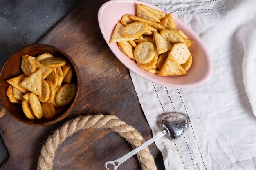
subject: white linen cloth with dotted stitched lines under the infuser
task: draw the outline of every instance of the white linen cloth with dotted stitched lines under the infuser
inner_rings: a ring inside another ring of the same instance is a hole
[[[202,39],[213,75],[201,86],[171,88],[130,72],[152,128],[164,113],[189,115],[177,142],[155,142],[166,170],[256,170],[256,0],[143,0],[188,24]]]

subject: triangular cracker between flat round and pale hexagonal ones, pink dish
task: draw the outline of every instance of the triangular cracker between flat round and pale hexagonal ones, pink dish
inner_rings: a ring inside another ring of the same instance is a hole
[[[156,31],[154,31],[154,38],[155,38],[155,44],[157,46],[157,54],[158,55],[165,53],[167,51],[171,51],[171,49],[173,48],[173,45],[170,42],[168,42],[167,40],[165,40],[162,37],[162,35],[160,35]]]

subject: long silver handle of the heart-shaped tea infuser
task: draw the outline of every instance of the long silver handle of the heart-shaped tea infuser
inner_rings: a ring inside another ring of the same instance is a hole
[[[121,165],[124,161],[126,161],[127,159],[129,159],[130,157],[132,157],[133,155],[137,154],[139,151],[141,151],[142,149],[146,148],[148,145],[152,144],[153,142],[155,142],[157,139],[159,139],[160,137],[166,135],[166,131],[163,130],[161,133],[157,134],[155,137],[149,139],[148,141],[146,141],[144,144],[140,145],[139,147],[137,147],[136,149],[132,150],[131,152],[129,152],[128,154],[124,155],[123,157],[115,160],[115,161],[108,161],[104,164],[105,168],[107,170],[110,170],[108,168],[108,164],[111,164],[114,166],[113,170],[116,170],[119,165]]]

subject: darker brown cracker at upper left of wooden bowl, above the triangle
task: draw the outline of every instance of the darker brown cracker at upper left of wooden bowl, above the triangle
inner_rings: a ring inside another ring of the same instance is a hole
[[[26,76],[29,76],[31,73],[36,71],[36,66],[31,57],[28,55],[22,56],[20,68]]]

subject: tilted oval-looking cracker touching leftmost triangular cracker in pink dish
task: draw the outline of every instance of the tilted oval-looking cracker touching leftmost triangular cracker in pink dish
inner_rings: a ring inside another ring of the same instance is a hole
[[[124,38],[135,38],[147,31],[148,24],[144,22],[133,22],[124,27],[121,31],[121,36]]]

